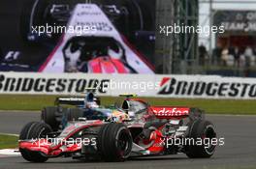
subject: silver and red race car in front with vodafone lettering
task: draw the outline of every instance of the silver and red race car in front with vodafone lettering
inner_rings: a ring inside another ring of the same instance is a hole
[[[150,106],[142,99],[126,97],[108,119],[80,118],[70,122],[60,134],[42,122],[27,124],[20,132],[19,152],[31,162],[58,156],[123,161],[129,157],[177,153],[191,158],[213,155],[215,145],[211,141],[216,138],[216,131],[201,110]],[[177,143],[177,139],[186,141]],[[202,144],[190,142],[195,139],[201,139]]]

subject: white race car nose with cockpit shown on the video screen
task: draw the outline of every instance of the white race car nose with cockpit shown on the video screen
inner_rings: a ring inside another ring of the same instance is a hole
[[[63,34],[40,72],[154,73],[96,4],[76,5],[68,27],[83,26]]]

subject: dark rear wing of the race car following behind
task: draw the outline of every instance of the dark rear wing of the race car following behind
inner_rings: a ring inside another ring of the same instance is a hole
[[[84,98],[81,97],[62,97],[62,98],[57,98],[55,99],[55,105],[60,105],[60,104],[66,104],[66,105],[82,105],[84,104]]]

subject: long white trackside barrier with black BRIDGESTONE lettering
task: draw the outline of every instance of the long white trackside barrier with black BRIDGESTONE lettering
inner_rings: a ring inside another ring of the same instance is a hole
[[[145,75],[0,72],[1,94],[78,95],[97,87],[99,96],[187,99],[256,99],[256,79],[217,75]]]

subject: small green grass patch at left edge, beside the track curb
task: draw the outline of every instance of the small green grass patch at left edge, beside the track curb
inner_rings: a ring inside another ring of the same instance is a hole
[[[0,149],[16,148],[17,139],[17,136],[0,134]]]

